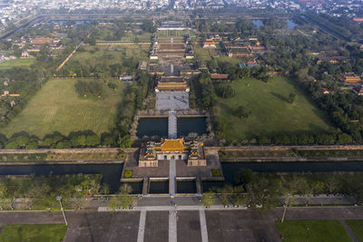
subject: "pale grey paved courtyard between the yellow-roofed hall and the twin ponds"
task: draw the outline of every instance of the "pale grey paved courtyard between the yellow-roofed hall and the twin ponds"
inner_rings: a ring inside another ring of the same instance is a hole
[[[157,92],[156,110],[188,110],[189,92]]]

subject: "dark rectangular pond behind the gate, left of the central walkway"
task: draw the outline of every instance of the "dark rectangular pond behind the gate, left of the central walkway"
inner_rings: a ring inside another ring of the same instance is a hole
[[[139,139],[158,136],[159,138],[168,137],[167,118],[140,118],[137,126],[136,136]]]

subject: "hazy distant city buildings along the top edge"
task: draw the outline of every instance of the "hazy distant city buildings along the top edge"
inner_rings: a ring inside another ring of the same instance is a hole
[[[3,0],[0,1],[0,31],[9,24],[46,12],[77,11],[193,11],[243,7],[280,12],[310,11],[332,16],[362,16],[363,0]]]

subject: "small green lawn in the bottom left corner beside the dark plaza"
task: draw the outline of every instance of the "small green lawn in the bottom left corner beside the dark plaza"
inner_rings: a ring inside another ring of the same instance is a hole
[[[2,242],[62,241],[67,226],[64,224],[7,225],[0,234]]]

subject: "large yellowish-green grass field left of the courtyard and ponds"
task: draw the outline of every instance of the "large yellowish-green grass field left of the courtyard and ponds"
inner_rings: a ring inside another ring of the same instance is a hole
[[[105,95],[100,100],[81,99],[75,92],[74,79],[53,79],[45,83],[14,121],[2,129],[8,137],[27,131],[43,138],[59,131],[91,130],[97,134],[109,131],[114,124],[116,105],[122,100],[123,83],[117,91],[104,85]]]

